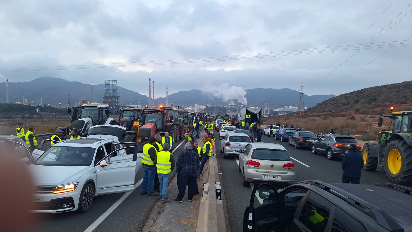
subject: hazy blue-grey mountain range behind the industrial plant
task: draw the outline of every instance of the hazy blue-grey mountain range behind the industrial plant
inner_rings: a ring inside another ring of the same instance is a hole
[[[6,83],[1,83],[2,89],[5,90]],[[262,107],[268,104],[269,107],[283,108],[285,106],[298,106],[300,99],[300,92],[288,88],[271,89],[271,88],[255,88],[245,90],[248,104]],[[120,95],[120,103],[145,105],[149,98],[138,92],[128,90],[117,86],[117,92]],[[91,85],[84,84],[78,81],[68,81],[61,78],[54,77],[40,77],[29,82],[9,82],[9,102],[23,102],[23,97],[27,98],[27,102],[40,102],[42,97],[43,104],[55,105],[61,100],[62,105],[66,106],[68,102],[68,95],[70,95],[70,103],[81,102],[87,97],[89,101],[102,102],[102,95],[105,93],[105,84],[93,85],[93,96],[91,97]],[[304,104],[307,106],[316,105],[335,95],[303,95]],[[226,97],[227,98],[227,97]],[[175,106],[189,106],[195,103],[200,105],[206,104],[227,104],[228,101],[233,101],[236,105],[241,103],[236,99],[223,100],[221,96],[216,96],[201,90],[180,91],[169,95],[169,102],[173,102]],[[0,103],[6,102],[6,91],[0,92]],[[155,99],[155,105],[165,104],[166,98],[159,97]]]

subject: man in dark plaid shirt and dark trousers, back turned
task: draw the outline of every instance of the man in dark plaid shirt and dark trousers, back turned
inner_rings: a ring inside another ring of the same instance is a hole
[[[199,155],[192,150],[190,142],[185,144],[185,150],[180,152],[176,161],[176,173],[178,175],[178,189],[179,193],[174,202],[183,202],[187,186],[187,199],[192,201],[197,185],[196,176],[199,169]]]

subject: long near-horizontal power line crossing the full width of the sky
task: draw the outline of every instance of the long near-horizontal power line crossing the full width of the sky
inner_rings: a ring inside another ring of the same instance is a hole
[[[382,42],[382,43],[389,43],[389,42]],[[384,44],[380,45],[380,47],[376,47],[379,45],[372,45],[365,47],[364,49],[376,49],[376,48],[385,48],[385,47],[395,47],[395,46],[388,46],[388,45],[400,45],[398,43],[394,44]],[[405,43],[401,46],[410,46],[412,42]],[[349,46],[349,45],[346,45]],[[170,65],[170,64],[193,64],[193,63],[206,63],[206,62],[219,62],[219,61],[231,61],[231,60],[243,60],[243,59],[258,59],[258,58],[268,58],[268,57],[283,57],[283,56],[292,56],[292,55],[302,55],[302,54],[317,54],[317,53],[326,53],[326,52],[340,52],[346,50],[357,50],[357,47],[353,47],[353,49],[347,48],[339,48],[339,49],[330,49],[330,50],[318,50],[318,51],[306,51],[306,52],[292,52],[292,53],[283,53],[283,54],[271,54],[271,55],[261,55],[261,56],[254,56],[254,57],[233,57],[233,58],[223,58],[223,59],[209,59],[209,60],[200,60],[200,61],[185,61],[185,62],[166,62],[166,63],[151,63],[151,64],[126,64],[121,63],[124,65],[112,65],[112,66],[91,66],[91,67],[84,67],[84,66],[65,66],[62,68],[46,68],[46,69],[3,69],[5,71],[1,71],[2,73],[8,72],[26,72],[26,71],[53,71],[53,70],[71,70],[71,69],[97,69],[97,68],[113,68],[113,67],[136,67],[136,66],[155,66],[155,65]]]

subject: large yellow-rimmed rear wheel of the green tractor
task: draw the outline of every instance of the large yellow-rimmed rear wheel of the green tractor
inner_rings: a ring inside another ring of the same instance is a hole
[[[412,147],[405,140],[393,140],[385,149],[386,177],[394,183],[405,184],[412,180]]]

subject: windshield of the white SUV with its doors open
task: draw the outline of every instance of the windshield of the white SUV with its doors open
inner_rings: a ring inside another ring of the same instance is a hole
[[[35,162],[45,166],[89,166],[93,160],[93,147],[50,147]]]

